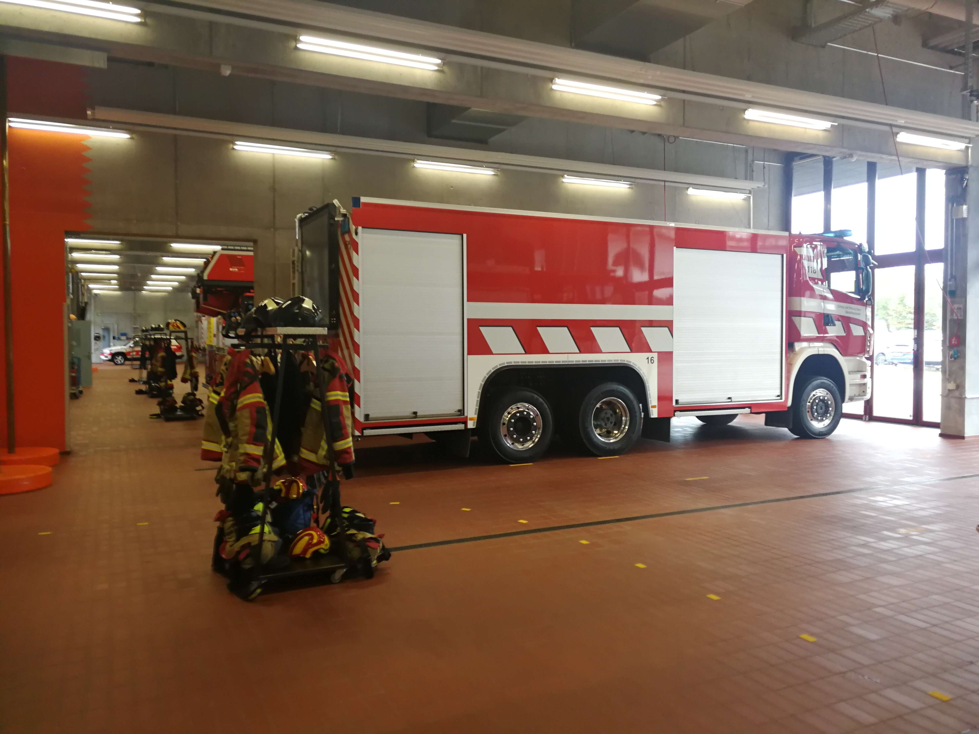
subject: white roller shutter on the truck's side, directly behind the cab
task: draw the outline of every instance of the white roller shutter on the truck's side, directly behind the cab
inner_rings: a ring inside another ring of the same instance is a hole
[[[781,254],[674,251],[674,404],[782,399]]]

